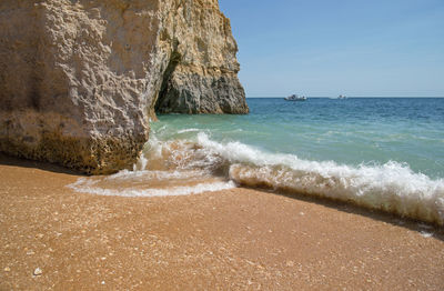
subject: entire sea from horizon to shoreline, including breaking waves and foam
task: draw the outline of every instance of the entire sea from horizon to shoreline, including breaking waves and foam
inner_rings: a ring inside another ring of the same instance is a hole
[[[123,197],[249,187],[444,224],[444,98],[246,101],[245,116],[158,116],[132,171],[70,187]]]

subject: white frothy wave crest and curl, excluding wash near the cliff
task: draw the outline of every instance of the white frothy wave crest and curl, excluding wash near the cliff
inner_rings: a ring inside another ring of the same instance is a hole
[[[265,153],[241,142],[224,144],[203,132],[198,134],[196,144],[198,150],[188,152],[191,160],[204,157],[201,167],[228,164],[229,178],[239,184],[325,197],[444,224],[444,180],[415,173],[407,164],[390,161],[352,167],[309,161],[293,154]]]

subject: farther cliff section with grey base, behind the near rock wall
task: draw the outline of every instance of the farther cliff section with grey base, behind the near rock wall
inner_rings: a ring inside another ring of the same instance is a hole
[[[170,61],[157,111],[246,113],[238,44],[218,1],[171,1],[163,11],[161,47],[170,51]]]

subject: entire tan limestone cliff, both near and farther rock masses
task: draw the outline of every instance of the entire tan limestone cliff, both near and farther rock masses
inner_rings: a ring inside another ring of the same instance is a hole
[[[155,111],[246,113],[216,0],[2,0],[0,151],[130,167]]]

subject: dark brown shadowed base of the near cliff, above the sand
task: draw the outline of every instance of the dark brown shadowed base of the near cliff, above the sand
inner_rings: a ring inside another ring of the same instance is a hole
[[[130,169],[138,160],[147,137],[78,138],[59,131],[43,131],[38,139],[19,138],[20,132],[0,138],[0,153],[37,161],[48,161],[87,174],[110,174]]]

